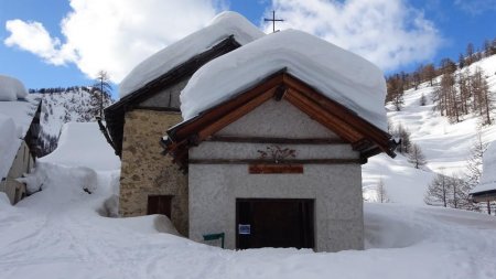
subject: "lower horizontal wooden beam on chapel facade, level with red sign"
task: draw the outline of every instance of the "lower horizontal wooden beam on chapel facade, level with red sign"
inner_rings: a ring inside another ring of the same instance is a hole
[[[268,164],[273,160],[261,159],[190,159],[190,164]],[[280,164],[359,164],[360,159],[291,159]]]

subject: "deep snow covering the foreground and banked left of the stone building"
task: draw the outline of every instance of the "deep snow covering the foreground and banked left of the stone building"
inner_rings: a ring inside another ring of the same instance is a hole
[[[91,124],[64,128],[58,150],[37,167],[43,190],[13,207],[0,197],[0,278],[496,278],[496,218],[479,213],[366,203],[366,249],[339,253],[224,250],[176,236],[164,216],[106,217],[119,165],[99,164],[114,158],[98,132]],[[402,161],[389,165],[405,181],[398,192],[418,182]]]

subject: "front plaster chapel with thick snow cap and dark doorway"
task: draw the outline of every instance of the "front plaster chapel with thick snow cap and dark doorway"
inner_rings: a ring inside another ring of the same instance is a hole
[[[201,67],[162,144],[187,172],[190,238],[362,249],[362,168],[393,157],[382,73],[313,35],[266,35]]]

